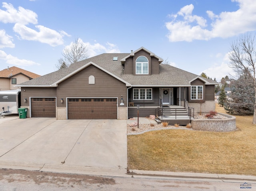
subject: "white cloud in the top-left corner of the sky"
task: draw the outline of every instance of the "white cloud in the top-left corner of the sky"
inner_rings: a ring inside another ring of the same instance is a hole
[[[37,14],[31,10],[19,7],[16,10],[12,4],[2,3],[6,11],[0,9],[0,21],[3,23],[37,24]]]

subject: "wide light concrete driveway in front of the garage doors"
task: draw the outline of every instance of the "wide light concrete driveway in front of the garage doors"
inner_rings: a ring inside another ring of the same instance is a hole
[[[7,117],[0,118],[0,167],[126,172],[126,120]]]

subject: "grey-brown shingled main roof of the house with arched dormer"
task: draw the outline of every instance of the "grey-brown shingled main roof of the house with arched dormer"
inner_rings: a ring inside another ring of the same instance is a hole
[[[18,87],[55,87],[56,83],[68,78],[71,73],[78,72],[80,69],[84,69],[84,66],[92,62],[97,67],[108,71],[111,75],[117,79],[130,84],[132,86],[148,86],[148,87],[167,87],[167,86],[190,86],[190,81],[196,78],[203,79],[207,84],[218,84],[216,81],[206,79],[195,75],[193,73],[178,69],[176,67],[160,64],[160,74],[152,75],[132,75],[124,74],[124,66],[121,64],[121,59],[129,56],[130,53],[103,53],[101,55],[85,59],[83,61],[73,63],[68,68],[64,68],[53,73],[49,73],[42,77],[32,79],[24,82]],[[113,60],[113,57],[118,57],[117,60]]]

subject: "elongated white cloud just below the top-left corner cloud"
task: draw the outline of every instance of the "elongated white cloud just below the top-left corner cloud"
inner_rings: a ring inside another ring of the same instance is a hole
[[[20,35],[21,39],[39,41],[51,46],[58,46],[64,43],[63,37],[68,36],[64,31],[57,32],[42,25],[36,25],[39,31],[28,28],[25,25],[16,23],[13,27],[14,32]]]

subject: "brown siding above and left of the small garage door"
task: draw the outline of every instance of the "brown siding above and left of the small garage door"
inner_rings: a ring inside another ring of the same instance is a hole
[[[54,88],[22,87],[21,88],[21,105],[29,106],[30,104],[29,97],[56,97],[56,96],[57,96],[56,87]],[[24,98],[27,98],[26,103],[23,101]]]

